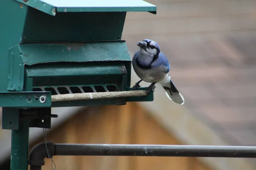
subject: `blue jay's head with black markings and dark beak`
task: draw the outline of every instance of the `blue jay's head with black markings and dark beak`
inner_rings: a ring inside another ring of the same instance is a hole
[[[143,54],[155,56],[160,53],[159,45],[153,40],[145,39],[139,41],[137,45],[140,47],[140,52]]]

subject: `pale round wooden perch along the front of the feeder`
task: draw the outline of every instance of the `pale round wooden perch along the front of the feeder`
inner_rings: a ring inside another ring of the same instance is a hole
[[[147,91],[113,91],[97,93],[79,93],[79,94],[57,94],[52,95],[52,102],[63,102],[72,100],[93,100],[93,99],[112,99],[118,97],[147,96]]]

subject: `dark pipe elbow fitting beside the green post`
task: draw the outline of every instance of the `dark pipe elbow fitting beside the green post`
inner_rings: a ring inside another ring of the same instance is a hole
[[[32,148],[29,153],[30,170],[41,170],[41,166],[45,164],[44,159],[49,158],[46,148],[49,150],[49,155],[52,157],[54,155],[55,146],[51,141],[46,144],[44,142],[39,143]]]

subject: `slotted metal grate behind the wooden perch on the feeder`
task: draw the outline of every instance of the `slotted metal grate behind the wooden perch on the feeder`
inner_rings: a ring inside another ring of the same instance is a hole
[[[96,93],[119,91],[116,85],[90,85],[90,86],[39,86],[34,87],[33,91],[50,91],[56,94],[77,94],[77,93]]]

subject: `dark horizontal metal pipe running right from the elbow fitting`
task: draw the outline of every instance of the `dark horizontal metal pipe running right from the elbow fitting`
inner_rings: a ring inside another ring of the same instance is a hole
[[[55,155],[256,158],[256,147],[140,144],[55,144]]]

